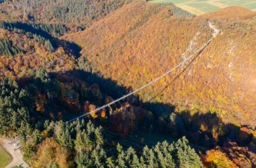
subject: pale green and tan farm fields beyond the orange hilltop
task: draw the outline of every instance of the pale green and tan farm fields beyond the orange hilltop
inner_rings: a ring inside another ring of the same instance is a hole
[[[256,0],[152,0],[150,3],[174,3],[195,15],[210,13],[233,5],[256,11]]]

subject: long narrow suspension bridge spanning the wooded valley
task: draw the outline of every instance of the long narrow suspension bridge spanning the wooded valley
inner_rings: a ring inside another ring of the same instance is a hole
[[[214,31],[216,32],[216,31]],[[129,97],[130,95],[134,95],[135,93],[137,93],[138,91],[140,91],[141,89],[144,89],[146,87],[148,87],[149,85],[152,85],[153,83],[155,83],[156,81],[160,80],[162,77],[165,77],[166,75],[168,75],[169,73],[172,73],[175,69],[181,67],[183,64],[185,64],[185,62],[187,62],[188,60],[190,60],[191,58],[193,58],[193,56],[196,56],[197,54],[199,54],[208,44],[210,44],[210,42],[212,42],[212,40],[216,37],[216,34],[213,34],[212,38],[210,38],[210,40],[208,40],[205,44],[203,44],[196,52],[194,52],[193,54],[191,54],[190,56],[188,56],[187,58],[185,58],[182,62],[180,62],[178,65],[176,65],[175,67],[173,67],[172,69],[170,69],[169,71],[167,71],[166,73],[164,73],[163,75],[157,77],[156,79],[154,79],[153,81],[150,81],[149,83],[147,83],[146,85],[143,85],[137,89],[135,89],[134,91],[132,91],[131,93],[128,93],[127,95],[123,95],[123,97],[120,97],[118,99],[115,99],[114,101],[111,101],[110,103],[105,104],[104,106],[101,106],[99,108],[96,108],[95,110],[92,110],[91,112],[88,112],[86,114],[83,114],[82,116],[78,116],[76,118],[73,118],[67,122],[73,122],[74,120],[77,120],[79,118],[84,118],[85,116],[88,116],[92,113],[98,112],[104,108],[107,108],[108,106],[117,103],[118,101],[125,99],[126,97]]]

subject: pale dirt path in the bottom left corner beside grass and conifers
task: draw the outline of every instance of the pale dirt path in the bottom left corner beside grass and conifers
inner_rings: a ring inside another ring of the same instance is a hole
[[[5,139],[5,138],[0,138],[0,144],[3,146],[3,149],[9,153],[12,157],[11,163],[7,165],[5,168],[11,168],[15,166],[22,166],[22,167],[29,167],[28,164],[22,159],[22,153],[20,150],[14,151],[14,149],[17,149],[18,146],[14,146],[13,143],[11,143],[11,140]],[[15,144],[19,143],[18,140],[16,140]]]

